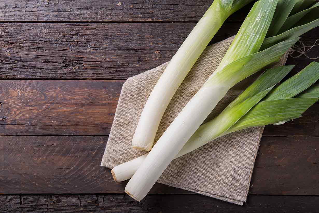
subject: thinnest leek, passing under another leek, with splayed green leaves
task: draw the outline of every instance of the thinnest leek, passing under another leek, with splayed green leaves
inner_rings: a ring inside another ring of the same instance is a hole
[[[299,118],[305,110],[319,99],[319,85],[312,85],[319,79],[319,63],[311,63],[298,74],[274,88],[275,84],[282,80],[292,68],[293,66],[283,66],[263,72],[222,113],[201,125],[175,158],[228,133],[254,126],[283,124],[285,121]],[[300,93],[303,90],[305,91]],[[265,95],[267,96],[264,97]],[[260,102],[260,100],[262,101]],[[234,120],[239,120],[233,124],[228,124],[232,126],[224,133],[219,136],[214,135],[216,123],[226,120],[230,116]],[[130,179],[147,155],[148,153],[115,166],[111,170],[114,180]]]

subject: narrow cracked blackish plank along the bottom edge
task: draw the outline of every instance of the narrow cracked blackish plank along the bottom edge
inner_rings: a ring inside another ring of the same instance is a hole
[[[159,213],[159,212],[308,212],[318,213],[319,196],[250,195],[247,204],[235,204],[211,199],[198,194],[149,194],[146,199],[134,201],[128,195],[0,195],[2,213],[20,212],[107,212],[107,213]]]

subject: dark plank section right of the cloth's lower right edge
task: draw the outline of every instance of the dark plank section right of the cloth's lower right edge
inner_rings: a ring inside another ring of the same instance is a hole
[[[319,194],[319,137],[262,137],[251,194]]]

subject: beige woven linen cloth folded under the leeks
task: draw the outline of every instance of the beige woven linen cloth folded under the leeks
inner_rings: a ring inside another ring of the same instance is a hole
[[[233,39],[234,36],[204,50],[168,105],[155,141],[214,72]],[[287,56],[286,53],[276,65],[284,65]],[[146,100],[168,63],[133,76],[123,84],[101,166],[112,169],[146,153],[131,148],[131,141]],[[251,76],[230,89],[208,119],[218,115],[256,77]],[[173,160],[157,182],[242,205],[262,133],[263,126],[253,127],[207,143]]]

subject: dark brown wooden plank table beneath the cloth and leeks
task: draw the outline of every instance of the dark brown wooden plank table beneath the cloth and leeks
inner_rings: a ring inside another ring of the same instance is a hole
[[[100,167],[123,82],[170,60],[210,4],[0,0],[0,212],[319,212],[318,103],[266,126],[243,207],[161,184],[138,203]]]

